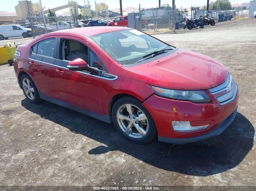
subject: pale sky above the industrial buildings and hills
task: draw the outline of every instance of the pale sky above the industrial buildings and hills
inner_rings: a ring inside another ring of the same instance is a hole
[[[0,2],[4,2],[5,0],[0,0]],[[79,5],[84,5],[84,0],[75,0]],[[212,2],[214,0],[210,0]],[[250,0],[229,0],[231,4],[237,3],[247,3]],[[8,2],[8,3],[7,3]],[[18,0],[7,0],[4,5],[0,6],[0,11],[7,11],[7,12],[15,12],[14,6],[18,4]],[[39,2],[39,0],[32,0],[32,3]],[[85,0],[87,4],[87,0]],[[107,3],[108,9],[116,9],[119,8],[119,0],[96,0],[96,3]],[[206,6],[207,0],[176,0],[176,7],[191,7],[193,6]],[[42,0],[43,7],[46,8],[54,8],[61,5],[68,4],[68,0]],[[92,5],[92,9],[94,9],[94,0],[90,0],[90,4]],[[157,7],[158,0],[122,0],[123,8],[125,7],[135,7],[138,8],[139,4],[142,5],[142,8],[150,8],[150,7]],[[161,4],[170,4],[172,6],[172,0],[161,0]]]

